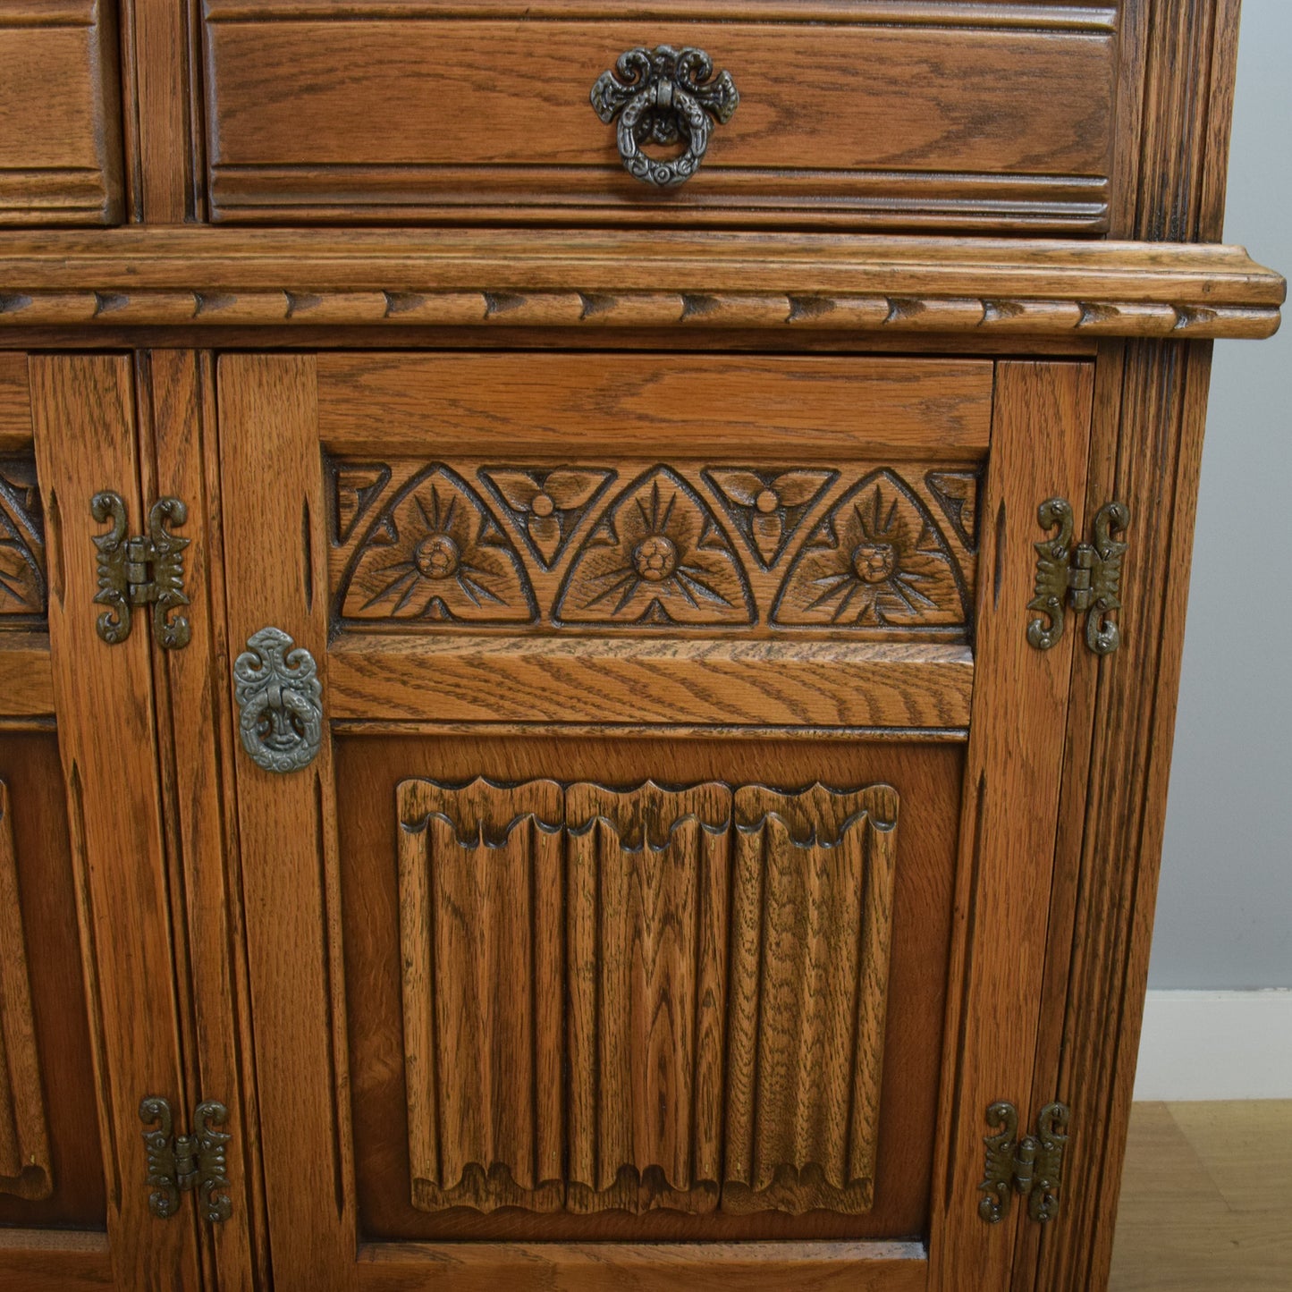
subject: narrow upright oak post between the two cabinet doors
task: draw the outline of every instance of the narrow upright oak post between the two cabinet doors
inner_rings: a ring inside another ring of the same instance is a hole
[[[203,1226],[205,1278],[233,1292],[253,1286],[264,1199],[231,793],[235,736],[227,699],[213,359],[159,351],[147,357],[142,377],[147,395],[141,417],[145,490],[149,496],[190,504],[182,532],[190,539],[185,594],[191,607],[185,614],[191,640],[183,650],[154,651],[154,678],[174,858],[172,919],[177,941],[182,937],[186,943],[190,1026],[196,1040],[189,1079],[202,1098],[218,1099],[231,1110],[224,1127],[233,1136],[226,1146],[230,1185],[225,1189],[231,1213],[218,1225]]]

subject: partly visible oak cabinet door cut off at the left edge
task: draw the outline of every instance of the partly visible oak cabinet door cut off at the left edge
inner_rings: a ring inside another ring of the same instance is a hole
[[[146,616],[107,645],[90,514],[140,532],[132,360],[0,355],[0,1284],[200,1286],[140,1105],[187,1129]],[[96,1116],[97,1112],[97,1116]]]

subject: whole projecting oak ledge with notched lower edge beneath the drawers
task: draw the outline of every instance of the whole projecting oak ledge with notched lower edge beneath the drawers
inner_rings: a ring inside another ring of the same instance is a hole
[[[1269,336],[1286,284],[1242,248],[479,230],[0,234],[0,328],[695,327]]]

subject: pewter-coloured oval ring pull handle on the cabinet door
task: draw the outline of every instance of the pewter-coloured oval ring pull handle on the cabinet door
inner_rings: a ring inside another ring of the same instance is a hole
[[[314,656],[280,628],[261,628],[234,660],[243,748],[266,771],[307,767],[323,743],[323,687]]]

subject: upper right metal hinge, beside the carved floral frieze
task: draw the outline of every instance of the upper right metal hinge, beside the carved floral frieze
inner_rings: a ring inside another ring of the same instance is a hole
[[[1085,615],[1085,645],[1096,655],[1111,655],[1121,643],[1118,625],[1109,614],[1121,609],[1121,556],[1127,545],[1112,537],[1114,530],[1130,523],[1125,503],[1109,503],[1094,516],[1094,541],[1072,545],[1072,506],[1052,497],[1036,509],[1043,530],[1058,534],[1036,544],[1036,596],[1028,610],[1039,610],[1049,623],[1034,619],[1027,640],[1037,650],[1049,650],[1063,636],[1063,603]]]

